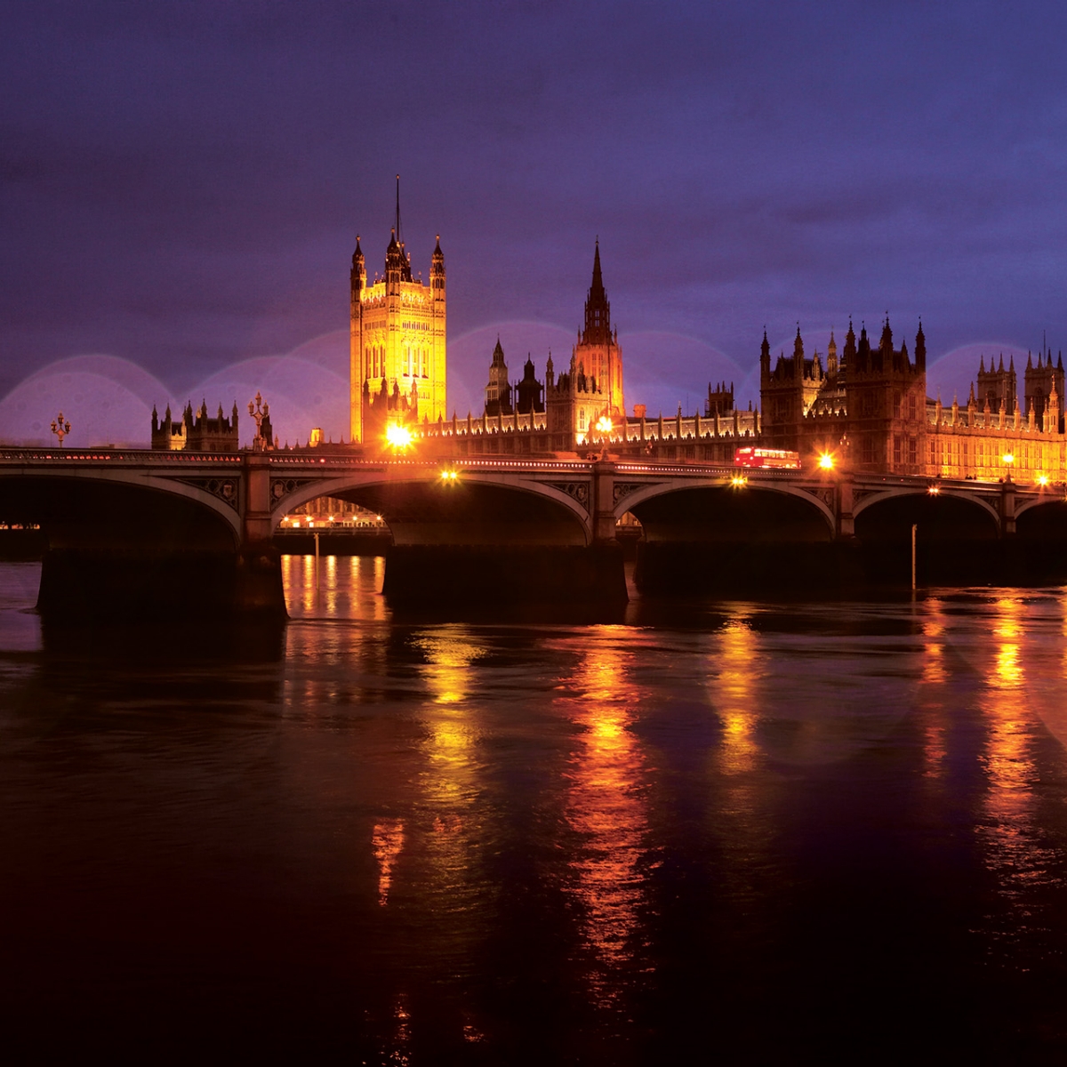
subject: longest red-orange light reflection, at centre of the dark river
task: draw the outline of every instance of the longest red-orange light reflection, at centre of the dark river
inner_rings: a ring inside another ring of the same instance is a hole
[[[631,653],[617,643],[621,627],[598,627],[580,648],[569,714],[582,728],[568,778],[568,822],[583,839],[571,861],[573,892],[582,904],[583,936],[596,959],[594,999],[612,1003],[611,973],[633,958],[646,903],[640,863],[648,815],[644,753],[632,732],[639,706],[630,680]]]

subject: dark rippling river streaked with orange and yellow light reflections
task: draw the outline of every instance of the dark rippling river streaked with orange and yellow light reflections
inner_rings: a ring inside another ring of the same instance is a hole
[[[1067,590],[442,622],[283,564],[238,634],[43,632],[0,564],[9,1047],[1067,1054]]]

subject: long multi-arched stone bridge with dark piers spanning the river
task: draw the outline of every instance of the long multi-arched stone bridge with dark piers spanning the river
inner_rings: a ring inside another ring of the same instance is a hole
[[[317,496],[381,514],[385,591],[625,600],[619,520],[641,524],[637,580],[730,591],[920,580],[1064,580],[1063,485],[603,459],[365,458],[305,451],[0,450],[0,522],[48,538],[46,617],[153,624],[284,615],[282,516]],[[1061,573],[1063,571],[1063,573]],[[188,624],[188,623],[187,623]]]

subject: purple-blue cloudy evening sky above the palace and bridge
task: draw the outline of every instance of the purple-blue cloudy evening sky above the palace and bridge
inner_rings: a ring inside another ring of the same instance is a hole
[[[7,2],[0,437],[146,442],[153,402],[347,432],[355,235],[441,234],[449,405],[570,356],[599,236],[626,402],[758,396],[766,324],[848,317],[966,399],[1067,348],[1061,3]],[[242,436],[250,436],[244,419]]]

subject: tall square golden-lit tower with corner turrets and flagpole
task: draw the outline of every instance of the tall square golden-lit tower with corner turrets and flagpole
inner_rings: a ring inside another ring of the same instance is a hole
[[[398,187],[399,189],[399,187]],[[391,419],[436,421],[445,416],[445,256],[441,237],[430,281],[414,277],[396,226],[385,250],[385,272],[367,281],[360,238],[351,274],[350,431],[353,442],[381,435]]]

